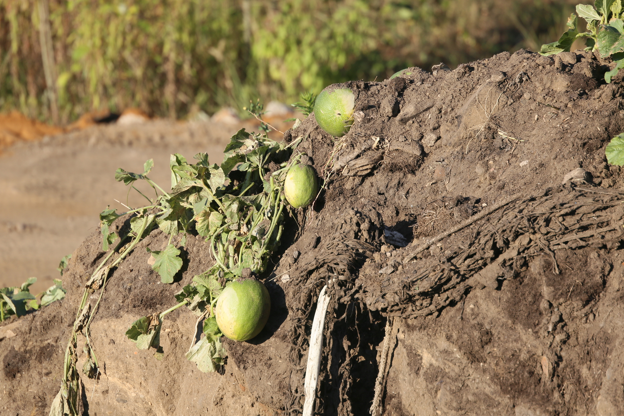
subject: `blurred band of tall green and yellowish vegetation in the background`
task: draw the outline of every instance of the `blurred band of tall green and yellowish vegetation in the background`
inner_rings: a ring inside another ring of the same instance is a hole
[[[0,111],[67,123],[100,109],[181,118],[256,97],[293,102],[412,65],[538,51],[576,3],[0,0]]]

